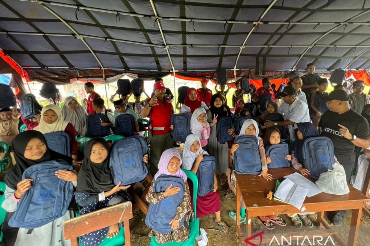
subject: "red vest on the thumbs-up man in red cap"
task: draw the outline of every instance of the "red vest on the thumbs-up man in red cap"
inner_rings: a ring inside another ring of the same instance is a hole
[[[149,101],[150,99],[148,99]],[[170,131],[171,116],[172,116],[172,103],[168,98],[164,98],[165,105],[158,100],[156,104],[152,105],[150,110],[150,127],[149,132],[153,135],[163,135]]]

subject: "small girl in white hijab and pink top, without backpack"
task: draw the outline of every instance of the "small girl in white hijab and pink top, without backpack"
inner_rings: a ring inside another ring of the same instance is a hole
[[[190,129],[192,134],[196,134],[199,137],[202,147],[208,144],[211,127],[207,122],[207,114],[204,108],[194,110],[190,119]]]

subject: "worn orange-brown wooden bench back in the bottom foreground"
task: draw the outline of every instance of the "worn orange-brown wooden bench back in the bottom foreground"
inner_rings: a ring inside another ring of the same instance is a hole
[[[123,222],[125,228],[125,246],[130,246],[129,219],[132,219],[132,204],[131,202],[122,202],[111,207],[68,219],[63,224],[64,238],[71,240],[72,246],[79,246],[79,236],[118,222]]]

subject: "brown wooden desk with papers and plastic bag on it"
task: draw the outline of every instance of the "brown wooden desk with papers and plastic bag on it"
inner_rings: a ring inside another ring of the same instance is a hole
[[[267,200],[266,196],[269,191],[275,191],[276,180],[281,180],[282,177],[292,174],[297,170],[293,167],[288,168],[276,168],[269,169],[269,173],[272,174],[273,179],[267,181],[262,176],[258,177],[250,174],[236,174],[236,229],[242,245],[246,245],[245,239],[252,236],[252,217],[273,215],[273,214],[293,214],[301,212],[317,212],[317,223],[319,223],[319,230],[307,230],[301,229],[299,232],[285,233],[284,236],[302,235],[308,236],[310,239],[313,236],[332,236],[339,245],[356,246],[357,236],[359,233],[361,211],[366,201],[369,201],[365,195],[361,194],[360,191],[353,188],[350,184],[350,193],[346,195],[331,195],[327,193],[320,193],[313,197],[306,197],[305,202],[302,205],[301,211],[292,205],[279,202],[274,199],[272,201]],[[314,179],[309,178],[314,182]],[[245,231],[242,231],[240,226],[240,193],[242,194],[243,200],[245,201],[246,209],[246,221]],[[345,243],[337,235],[336,231],[329,226],[329,223],[324,219],[324,212],[326,211],[338,211],[338,210],[349,210],[352,209],[351,226],[349,230],[348,242]],[[269,243],[273,236],[276,236],[280,241],[281,235],[276,233],[263,235],[262,243]],[[259,245],[260,238],[257,236],[255,239],[249,240],[250,242]]]

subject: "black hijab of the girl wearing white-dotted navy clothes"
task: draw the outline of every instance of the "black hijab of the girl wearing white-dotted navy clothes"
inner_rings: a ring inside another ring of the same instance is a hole
[[[102,163],[94,163],[90,160],[91,148],[95,143],[101,143],[108,150],[108,157]],[[77,192],[99,194],[111,190],[113,183],[109,170],[109,145],[104,138],[92,138],[85,146],[85,158],[78,172]]]

